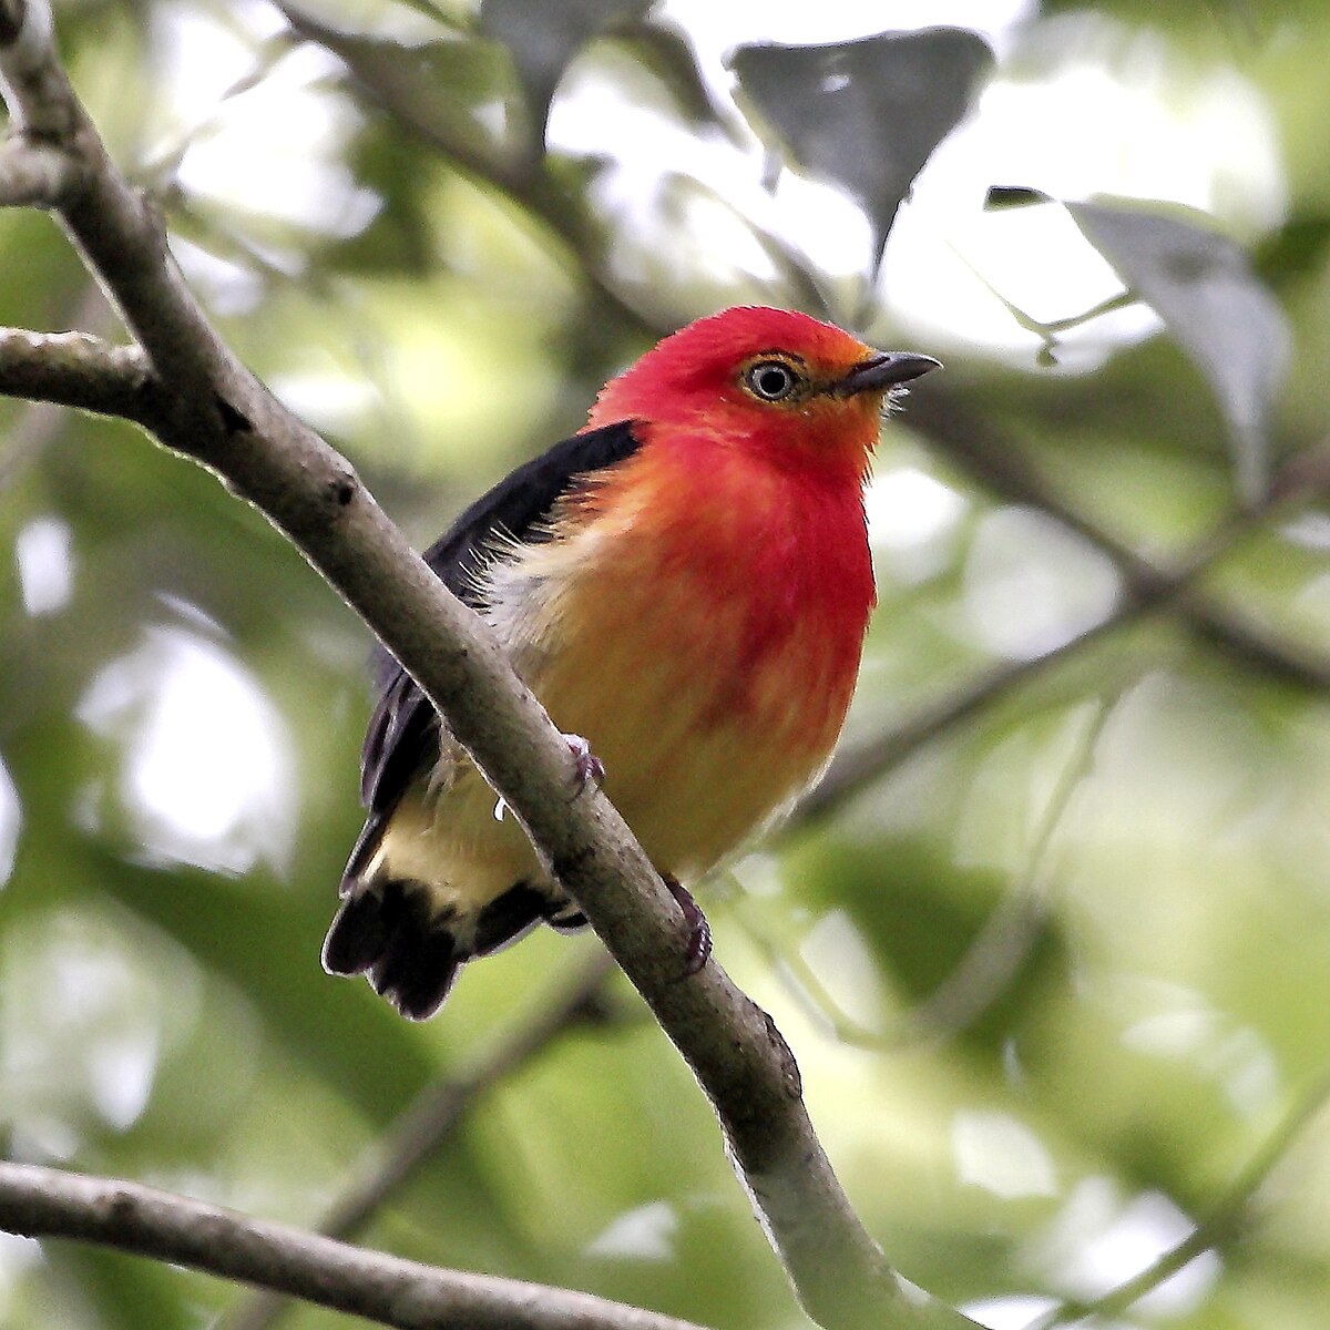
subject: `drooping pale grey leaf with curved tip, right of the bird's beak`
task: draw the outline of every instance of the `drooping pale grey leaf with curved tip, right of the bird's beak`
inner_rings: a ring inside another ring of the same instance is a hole
[[[1201,214],[1123,202],[1067,209],[1205,375],[1229,427],[1238,493],[1256,500],[1266,485],[1267,412],[1287,368],[1289,329],[1246,254]]]

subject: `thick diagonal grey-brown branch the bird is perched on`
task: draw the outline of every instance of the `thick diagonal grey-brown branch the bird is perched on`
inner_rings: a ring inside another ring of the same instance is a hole
[[[673,898],[602,794],[569,801],[575,758],[485,626],[411,551],[346,460],[219,340],[156,217],[114,170],[74,97],[44,0],[0,0],[0,80],[15,118],[63,124],[61,146],[84,164],[81,186],[57,215],[161,382],[153,432],[283,531],[447,718],[692,1067],[809,1313],[837,1327],[971,1325],[907,1290],[868,1237],[770,1017],[718,964],[677,982],[688,927]]]

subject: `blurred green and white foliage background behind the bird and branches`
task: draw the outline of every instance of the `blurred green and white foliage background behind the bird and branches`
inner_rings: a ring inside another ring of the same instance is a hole
[[[1330,1057],[1330,513],[1262,505],[1330,419],[1330,9],[934,8],[954,28],[692,0],[69,0],[59,23],[226,336],[420,544],[724,305],[946,359],[884,428],[845,749],[914,741],[714,883],[717,955],[911,1279],[1024,1326],[1137,1274],[1269,1150],[1213,1249],[1112,1323],[1323,1326],[1330,1124],[1279,1133]],[[930,157],[920,126],[958,118]],[[986,209],[995,186],[1027,206]],[[113,331],[44,217],[0,215],[0,322]],[[948,404],[1039,495],[920,424]],[[128,427],[0,402],[0,439],[8,1153],[314,1224],[595,943],[532,938],[423,1027],[326,978],[363,628]],[[1077,520],[1181,563],[1242,504],[1193,591],[1257,657],[1185,601],[1127,613]],[[621,984],[601,1016],[489,1088],[364,1238],[803,1325],[686,1071]],[[0,1241],[15,1330],[243,1298]]]

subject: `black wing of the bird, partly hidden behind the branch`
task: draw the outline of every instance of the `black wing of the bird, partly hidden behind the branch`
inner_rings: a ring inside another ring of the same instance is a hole
[[[443,584],[472,609],[483,608],[475,573],[489,553],[493,539],[540,540],[540,523],[559,499],[577,488],[581,476],[622,462],[637,451],[640,440],[630,422],[588,430],[556,443],[488,493],[477,499],[424,553],[424,561]],[[362,846],[368,843],[382,815],[402,797],[427,753],[438,743],[439,717],[410,674],[379,648],[374,662],[374,714],[360,751],[360,802],[370,821],[347,864],[356,868]]]

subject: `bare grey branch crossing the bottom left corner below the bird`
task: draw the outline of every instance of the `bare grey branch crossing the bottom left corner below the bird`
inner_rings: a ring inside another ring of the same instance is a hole
[[[291,1294],[399,1330],[700,1330],[589,1293],[439,1270],[169,1192],[0,1162],[0,1225]]]

